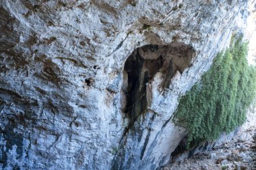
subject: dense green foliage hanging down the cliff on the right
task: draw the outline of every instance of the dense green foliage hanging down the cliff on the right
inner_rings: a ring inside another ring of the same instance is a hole
[[[214,140],[243,124],[255,98],[256,69],[247,62],[241,38],[216,56],[209,71],[180,100],[174,122],[188,130],[188,146]]]

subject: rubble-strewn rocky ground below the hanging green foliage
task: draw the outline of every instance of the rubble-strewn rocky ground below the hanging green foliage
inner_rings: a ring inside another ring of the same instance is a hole
[[[230,142],[212,148],[212,151],[164,167],[164,170],[172,169],[256,169],[256,130],[247,130]]]

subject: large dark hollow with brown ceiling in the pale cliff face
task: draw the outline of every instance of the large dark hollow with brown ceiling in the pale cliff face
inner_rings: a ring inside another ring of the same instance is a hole
[[[172,77],[191,65],[195,52],[182,43],[170,45],[146,45],[135,49],[125,61],[121,87],[122,112],[133,125],[137,117],[146,112],[147,84],[156,73],[163,75],[162,89],[168,88]]]

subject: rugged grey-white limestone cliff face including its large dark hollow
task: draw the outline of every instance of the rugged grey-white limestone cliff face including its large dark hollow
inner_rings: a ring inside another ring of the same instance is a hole
[[[0,167],[157,169],[251,1],[0,3]]]

